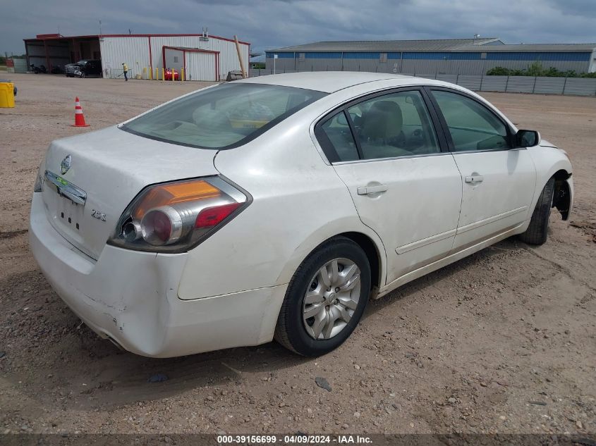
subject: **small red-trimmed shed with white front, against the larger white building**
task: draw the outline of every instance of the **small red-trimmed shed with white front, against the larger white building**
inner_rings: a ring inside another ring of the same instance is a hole
[[[162,57],[165,68],[184,68],[184,80],[219,80],[219,51],[164,46]]]

